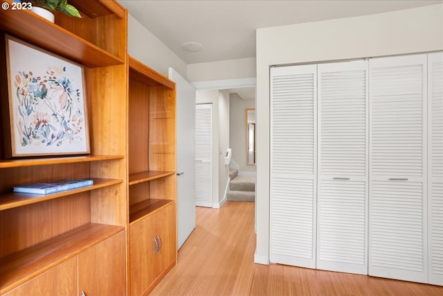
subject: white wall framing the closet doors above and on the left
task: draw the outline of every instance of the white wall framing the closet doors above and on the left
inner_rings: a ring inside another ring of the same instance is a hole
[[[443,50],[443,4],[257,30],[257,247],[269,263],[269,66]]]

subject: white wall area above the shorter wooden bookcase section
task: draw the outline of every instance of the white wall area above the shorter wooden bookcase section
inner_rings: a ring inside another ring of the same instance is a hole
[[[172,67],[183,78],[188,76],[188,66],[168,46],[163,44],[147,28],[128,14],[127,51],[136,60],[143,62],[155,71],[168,75]]]

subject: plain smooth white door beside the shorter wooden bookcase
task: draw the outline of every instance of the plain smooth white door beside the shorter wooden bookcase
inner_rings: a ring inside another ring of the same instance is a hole
[[[195,88],[169,68],[177,89],[177,248],[195,229]]]

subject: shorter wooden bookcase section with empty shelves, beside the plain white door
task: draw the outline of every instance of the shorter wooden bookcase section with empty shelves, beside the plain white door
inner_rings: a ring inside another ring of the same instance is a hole
[[[177,263],[175,83],[129,57],[129,294]]]

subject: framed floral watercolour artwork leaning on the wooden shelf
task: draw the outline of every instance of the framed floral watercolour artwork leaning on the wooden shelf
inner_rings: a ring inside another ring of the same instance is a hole
[[[84,69],[6,35],[10,157],[89,153]]]

